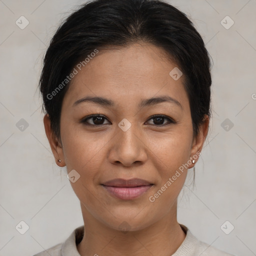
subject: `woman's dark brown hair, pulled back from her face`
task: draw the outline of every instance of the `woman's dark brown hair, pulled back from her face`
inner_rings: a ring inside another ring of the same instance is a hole
[[[93,0],[64,20],[44,56],[39,88],[57,137],[62,99],[70,85],[65,79],[74,66],[95,49],[140,41],[164,49],[182,71],[197,135],[204,115],[210,117],[211,75],[208,52],[192,22],[162,0]]]

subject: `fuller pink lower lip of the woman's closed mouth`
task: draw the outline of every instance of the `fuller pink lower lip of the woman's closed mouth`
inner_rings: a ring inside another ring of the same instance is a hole
[[[105,186],[103,187],[112,195],[119,199],[131,200],[137,198],[141,194],[145,193],[152,185],[136,186],[136,187],[117,187],[117,186]]]

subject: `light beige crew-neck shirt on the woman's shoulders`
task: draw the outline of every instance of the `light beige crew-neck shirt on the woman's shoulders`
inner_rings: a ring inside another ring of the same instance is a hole
[[[186,237],[176,252],[171,256],[234,256],[199,241],[186,226],[182,224],[180,224],[180,226],[186,233]],[[33,256],[80,256],[76,245],[81,241],[83,232],[84,226],[79,226],[73,230],[63,243],[58,243],[46,251],[41,251]]]

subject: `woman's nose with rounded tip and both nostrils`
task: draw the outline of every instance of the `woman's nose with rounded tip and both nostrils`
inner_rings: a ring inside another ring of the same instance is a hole
[[[117,126],[116,132],[109,144],[109,161],[123,166],[139,165],[145,162],[146,145],[136,125],[132,124],[126,131]]]

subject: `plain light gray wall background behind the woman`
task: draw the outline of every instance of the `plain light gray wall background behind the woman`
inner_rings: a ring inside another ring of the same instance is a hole
[[[51,36],[82,2],[0,0],[0,255],[32,255],[83,224],[65,168],[50,151],[36,89]],[[213,59],[211,128],[195,187],[188,175],[180,194],[178,221],[219,249],[256,255],[256,0],[169,2],[191,16]],[[24,29],[15,24],[21,15],[29,21]],[[220,22],[226,15],[234,21],[229,29]],[[21,220],[29,226],[24,234],[15,229]],[[234,226],[229,234],[220,228],[226,220]]]

